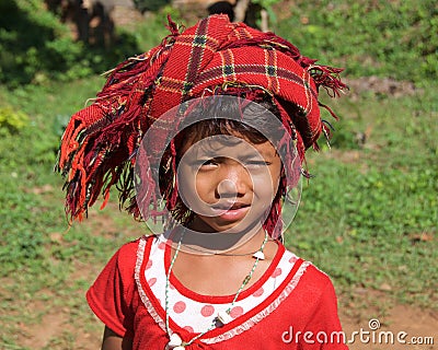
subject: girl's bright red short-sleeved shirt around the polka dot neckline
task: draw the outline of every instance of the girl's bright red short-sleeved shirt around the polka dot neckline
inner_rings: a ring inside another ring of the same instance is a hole
[[[131,338],[134,350],[164,349],[169,342],[165,311],[145,273],[153,238],[142,237],[124,245],[87,293],[96,316],[119,336]],[[284,252],[280,245],[277,255]],[[264,276],[275,271],[276,261],[274,258]],[[239,298],[254,293],[257,283]],[[170,328],[186,342],[198,335],[178,327],[172,319]],[[299,259],[283,283],[260,305],[223,327],[211,329],[186,349],[341,350],[347,347],[332,282],[313,265]]]

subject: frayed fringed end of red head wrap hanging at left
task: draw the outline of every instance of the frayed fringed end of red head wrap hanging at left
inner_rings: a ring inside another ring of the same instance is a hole
[[[71,220],[87,214],[88,208],[100,194],[104,198],[101,208],[104,208],[111,187],[117,183],[122,183],[120,205],[129,201],[127,209],[139,217],[131,154],[141,140],[141,129],[149,127],[141,122],[143,115],[149,112],[145,107],[150,106],[145,98],[150,98],[151,88],[180,34],[177,25],[170,18],[169,28],[171,34],[160,46],[146,55],[129,58],[107,72],[106,83],[93,105],[74,115],[67,126],[55,170],[67,176],[66,212]],[[140,127],[131,130],[132,125]],[[128,153],[120,148],[124,143],[128,144]],[[84,156],[85,150],[88,156]],[[148,178],[148,182],[152,185],[149,188],[154,188],[152,178]],[[155,197],[153,190],[146,195],[146,202]]]

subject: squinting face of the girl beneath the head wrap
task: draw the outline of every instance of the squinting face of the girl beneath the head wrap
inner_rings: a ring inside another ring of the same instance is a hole
[[[181,150],[178,190],[198,232],[244,232],[262,225],[278,189],[281,161],[270,142],[214,136]]]

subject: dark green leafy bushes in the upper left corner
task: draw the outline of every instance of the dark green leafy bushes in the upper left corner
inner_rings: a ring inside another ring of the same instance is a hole
[[[111,48],[73,40],[70,27],[42,0],[2,0],[0,13],[0,83],[12,89],[90,77],[140,52],[124,31]]]

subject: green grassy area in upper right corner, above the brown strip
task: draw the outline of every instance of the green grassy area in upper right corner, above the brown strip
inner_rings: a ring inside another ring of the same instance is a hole
[[[306,56],[337,61],[349,75],[415,83],[438,75],[435,0],[297,0],[289,9],[283,9],[277,33]]]

